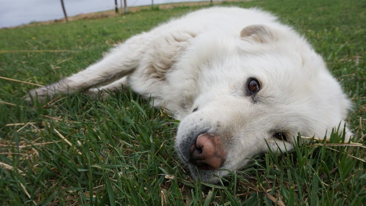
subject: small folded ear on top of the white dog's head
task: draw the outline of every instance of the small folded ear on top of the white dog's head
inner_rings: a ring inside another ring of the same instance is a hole
[[[277,41],[276,31],[266,25],[250,25],[242,29],[240,37],[243,40],[254,40],[259,43],[269,43]]]

